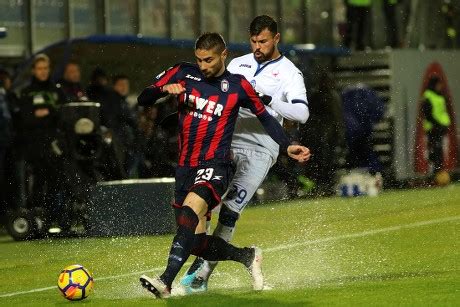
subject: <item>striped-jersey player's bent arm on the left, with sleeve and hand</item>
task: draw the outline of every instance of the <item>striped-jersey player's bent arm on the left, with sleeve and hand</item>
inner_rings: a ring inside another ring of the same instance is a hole
[[[178,64],[156,76],[153,84],[146,87],[139,97],[137,97],[138,104],[140,106],[148,106],[168,94],[178,95],[183,93],[185,89],[182,84],[178,83],[180,68],[181,65]]]

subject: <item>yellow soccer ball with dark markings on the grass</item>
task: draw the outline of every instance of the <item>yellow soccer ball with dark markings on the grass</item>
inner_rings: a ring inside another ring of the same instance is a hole
[[[93,291],[93,286],[93,275],[82,265],[69,265],[59,274],[59,291],[68,300],[79,301],[87,298]]]

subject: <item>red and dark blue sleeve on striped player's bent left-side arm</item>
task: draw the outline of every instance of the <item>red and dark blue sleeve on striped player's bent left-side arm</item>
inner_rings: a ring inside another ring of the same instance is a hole
[[[164,97],[167,93],[162,91],[162,87],[166,84],[177,83],[181,75],[181,64],[176,64],[173,67],[163,71],[155,77],[153,83],[146,87],[137,97],[137,102],[140,106],[152,105],[157,99]]]

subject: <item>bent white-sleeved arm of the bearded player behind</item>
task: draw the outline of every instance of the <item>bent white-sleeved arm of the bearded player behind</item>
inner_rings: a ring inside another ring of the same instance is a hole
[[[293,73],[292,78],[288,82],[285,82],[283,96],[286,101],[281,100],[281,98],[264,96],[262,101],[275,110],[276,113],[288,120],[304,124],[310,116],[307,91],[305,89],[303,75],[300,71]]]

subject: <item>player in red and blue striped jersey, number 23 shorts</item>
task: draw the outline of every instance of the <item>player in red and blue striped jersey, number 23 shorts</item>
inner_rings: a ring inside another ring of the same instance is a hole
[[[216,207],[233,175],[230,144],[238,110],[245,107],[262,123],[281,151],[297,161],[309,159],[309,150],[289,145],[281,125],[241,75],[225,68],[227,49],[217,33],[205,33],[195,43],[197,64],[181,63],[161,73],[138,97],[149,105],[167,94],[179,100],[179,163],[176,169],[177,232],[168,263],[159,277],[142,275],[141,284],[158,298],[168,297],[172,282],[193,254],[206,260],[233,260],[249,270],[253,288],[263,288],[260,249],[237,248],[220,237],[206,235],[206,216]]]

